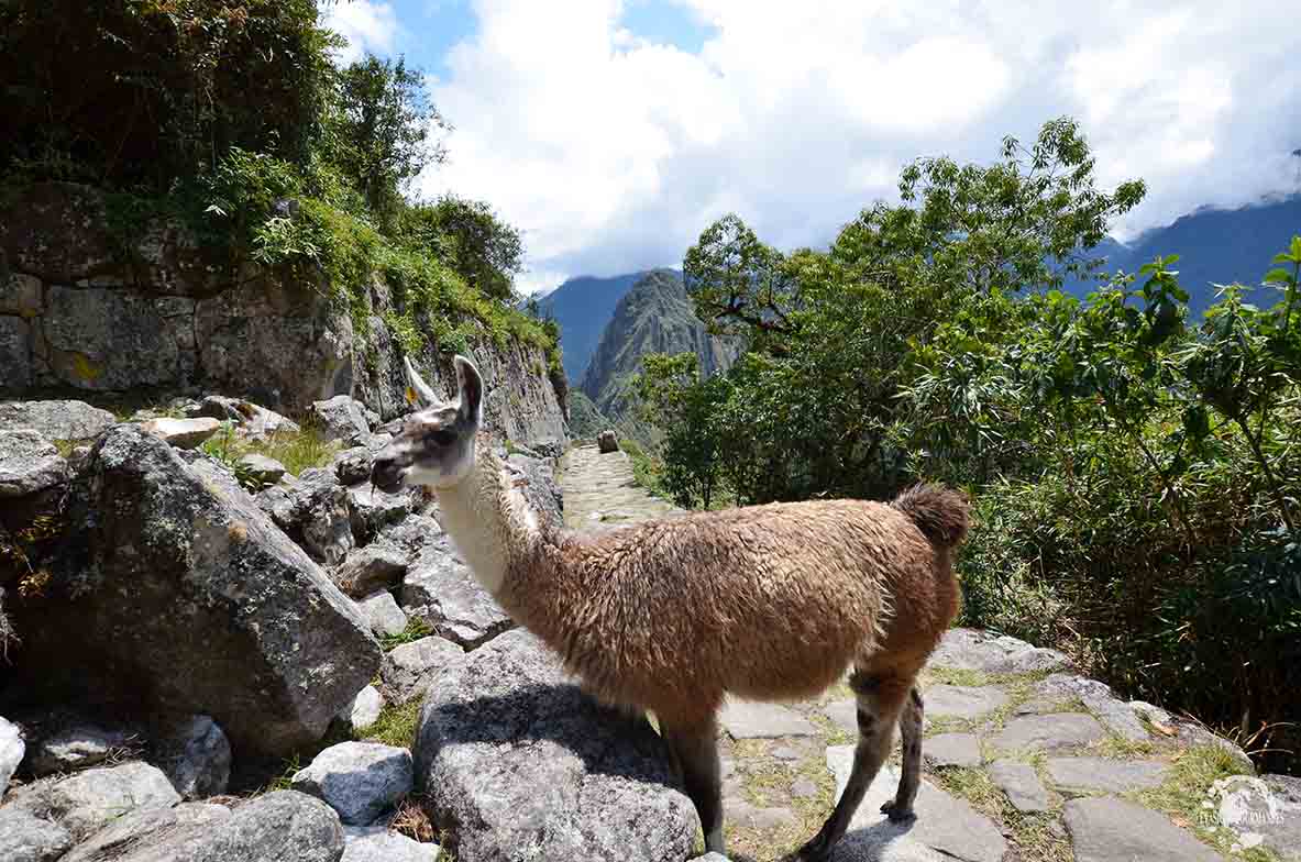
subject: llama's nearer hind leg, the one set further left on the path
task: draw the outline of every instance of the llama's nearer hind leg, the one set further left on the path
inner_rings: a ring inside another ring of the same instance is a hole
[[[853,749],[853,770],[831,816],[818,833],[800,848],[799,855],[805,862],[826,859],[831,848],[844,836],[868,787],[890,754],[895,723],[904,701],[908,699],[912,679],[869,676],[863,671],[855,671],[850,677],[850,688],[853,689],[859,707],[859,744]]]

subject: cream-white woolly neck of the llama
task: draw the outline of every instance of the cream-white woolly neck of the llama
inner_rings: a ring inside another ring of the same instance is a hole
[[[537,515],[487,442],[476,441],[475,468],[453,488],[437,489],[442,527],[475,579],[500,595],[511,564],[543,543]]]

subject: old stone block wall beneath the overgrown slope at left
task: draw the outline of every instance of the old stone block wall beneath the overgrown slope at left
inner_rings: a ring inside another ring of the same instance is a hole
[[[199,389],[285,412],[347,394],[390,419],[406,410],[401,351],[382,321],[393,300],[382,282],[366,293],[360,333],[323,283],[251,264],[232,273],[176,224],[114,238],[99,192],[36,185],[0,204],[0,394]],[[483,338],[471,354],[493,428],[563,438],[543,351]],[[415,361],[451,390],[450,358],[429,350]]]

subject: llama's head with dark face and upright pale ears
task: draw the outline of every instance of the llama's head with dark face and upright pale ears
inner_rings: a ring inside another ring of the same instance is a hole
[[[455,402],[442,402],[411,367],[411,360],[402,361],[420,411],[409,416],[393,442],[375,456],[371,481],[389,491],[402,485],[451,488],[475,468],[475,434],[483,423],[483,377],[474,363],[457,356],[459,393]]]

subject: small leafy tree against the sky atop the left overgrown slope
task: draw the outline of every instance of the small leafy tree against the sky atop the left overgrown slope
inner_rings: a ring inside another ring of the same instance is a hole
[[[432,129],[446,129],[429,103],[424,78],[397,62],[367,56],[340,73],[327,147],[330,160],[355,183],[385,233],[402,208],[402,186],[429,164],[442,161]]]

